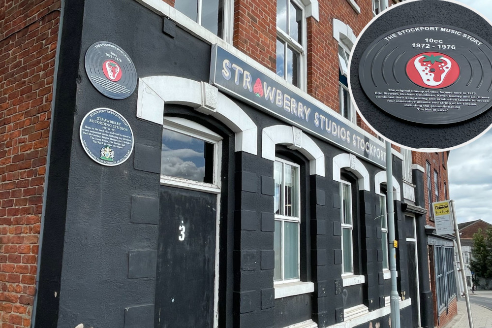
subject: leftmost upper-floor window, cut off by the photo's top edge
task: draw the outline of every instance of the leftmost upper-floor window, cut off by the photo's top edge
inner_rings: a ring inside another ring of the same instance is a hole
[[[227,33],[225,23],[232,21],[230,6],[228,0],[175,0],[174,2],[176,10],[221,38]]]

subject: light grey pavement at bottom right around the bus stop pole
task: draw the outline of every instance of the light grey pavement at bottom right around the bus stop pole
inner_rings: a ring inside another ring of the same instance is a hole
[[[492,328],[492,291],[470,291],[469,296],[473,328]],[[457,304],[458,314],[443,328],[469,327],[465,298],[459,297]]]

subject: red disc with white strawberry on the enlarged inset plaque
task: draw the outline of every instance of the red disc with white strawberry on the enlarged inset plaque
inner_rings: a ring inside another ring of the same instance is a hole
[[[451,56],[425,52],[411,58],[406,74],[415,84],[430,89],[449,87],[460,77],[460,66]]]

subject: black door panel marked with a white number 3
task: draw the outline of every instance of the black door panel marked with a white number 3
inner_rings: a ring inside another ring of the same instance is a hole
[[[213,327],[216,195],[160,187],[155,327]]]

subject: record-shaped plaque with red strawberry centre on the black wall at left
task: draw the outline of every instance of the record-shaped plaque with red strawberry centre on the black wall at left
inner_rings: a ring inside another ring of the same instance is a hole
[[[135,66],[116,44],[106,41],[92,44],[86,52],[85,66],[92,85],[104,96],[124,99],[135,91]]]

